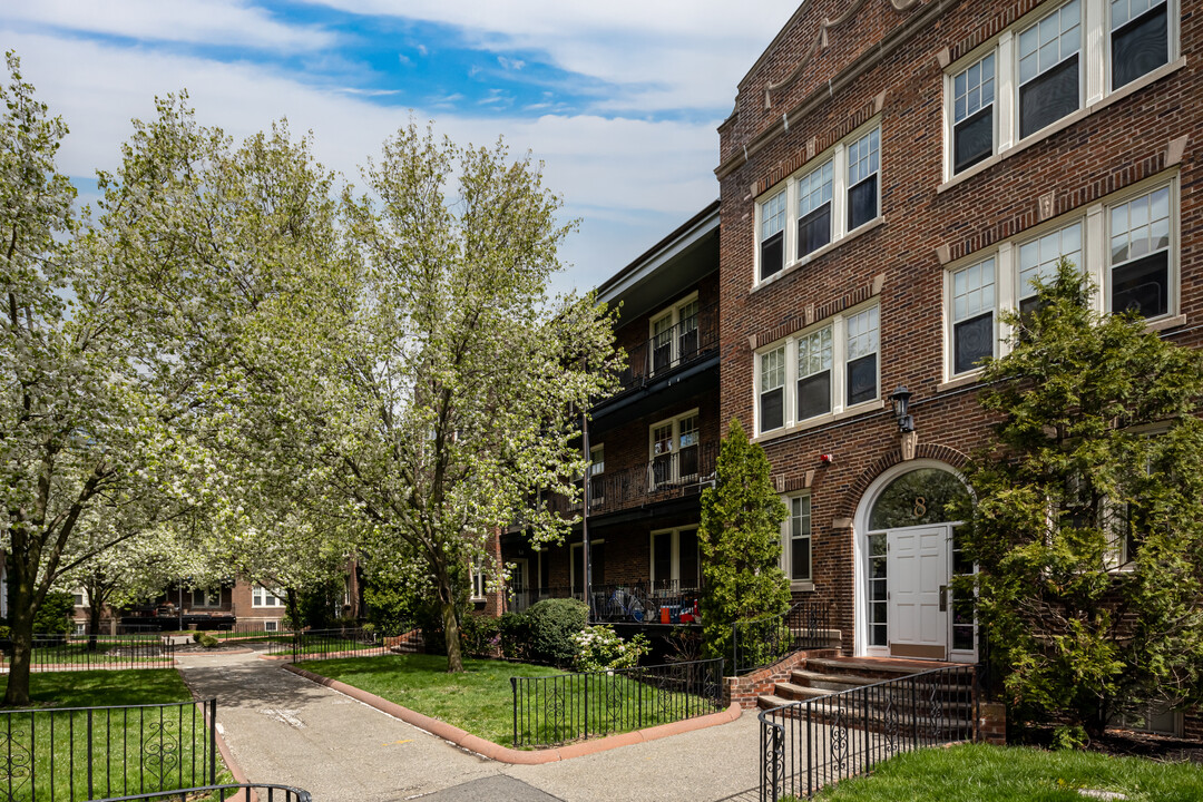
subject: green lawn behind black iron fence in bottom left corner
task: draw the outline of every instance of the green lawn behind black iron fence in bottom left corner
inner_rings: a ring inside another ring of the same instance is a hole
[[[0,690],[6,684],[7,677],[0,678]],[[12,766],[0,779],[0,796],[31,800],[36,791],[37,800],[59,802],[208,784],[206,761],[214,755],[194,705],[90,714],[58,709],[191,702],[177,671],[35,673],[30,691],[32,709],[0,709],[0,761]],[[218,782],[230,782],[220,756],[217,761]]]

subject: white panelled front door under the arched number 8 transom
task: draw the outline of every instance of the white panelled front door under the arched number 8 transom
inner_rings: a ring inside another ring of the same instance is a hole
[[[948,525],[887,533],[890,657],[948,657]]]

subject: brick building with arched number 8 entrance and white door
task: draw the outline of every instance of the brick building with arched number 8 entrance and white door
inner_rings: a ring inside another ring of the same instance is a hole
[[[765,447],[795,595],[835,605],[847,652],[978,657],[938,511],[988,433],[977,363],[1032,277],[1065,255],[1100,310],[1199,345],[1196,10],[808,0],[740,82],[716,171],[721,422]]]

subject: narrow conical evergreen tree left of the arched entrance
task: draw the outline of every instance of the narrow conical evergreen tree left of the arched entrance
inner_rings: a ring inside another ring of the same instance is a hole
[[[737,418],[723,440],[715,487],[701,494],[704,653],[730,654],[731,624],[780,613],[789,604],[781,570],[786,505],[769,479],[764,448],[748,441]]]

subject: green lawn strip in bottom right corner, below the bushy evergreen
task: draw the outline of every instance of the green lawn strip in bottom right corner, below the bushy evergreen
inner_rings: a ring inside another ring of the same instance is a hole
[[[822,802],[1083,802],[1079,789],[1130,802],[1203,800],[1203,766],[1098,753],[966,744],[891,758],[869,777],[818,794]]]

